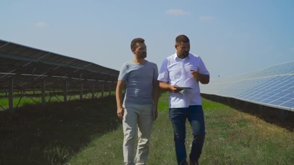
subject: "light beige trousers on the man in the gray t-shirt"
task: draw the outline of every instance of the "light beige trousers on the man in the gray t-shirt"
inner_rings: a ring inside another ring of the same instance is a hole
[[[123,105],[124,115],[122,128],[123,139],[123,157],[125,165],[146,165],[149,155],[149,139],[153,125],[152,104],[129,104]],[[138,129],[138,145],[135,161],[134,140]]]

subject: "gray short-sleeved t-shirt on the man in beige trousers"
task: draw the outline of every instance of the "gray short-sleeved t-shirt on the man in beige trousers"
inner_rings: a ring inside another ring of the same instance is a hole
[[[122,65],[118,80],[127,83],[124,103],[153,104],[153,81],[157,80],[157,65],[146,61],[144,65],[133,61]]]

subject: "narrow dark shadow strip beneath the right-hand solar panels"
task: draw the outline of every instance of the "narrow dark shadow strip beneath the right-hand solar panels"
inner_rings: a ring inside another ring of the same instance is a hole
[[[202,97],[225,104],[235,110],[252,114],[270,124],[276,124],[279,127],[286,128],[294,132],[294,112],[290,110],[279,110],[277,108],[266,107],[259,104],[245,102],[234,98],[227,98],[214,95],[201,94]],[[280,112],[283,112],[282,115]]]

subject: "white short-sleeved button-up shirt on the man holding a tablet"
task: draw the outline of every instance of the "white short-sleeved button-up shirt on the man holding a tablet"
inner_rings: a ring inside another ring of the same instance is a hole
[[[194,79],[191,70],[200,74],[209,75],[202,59],[191,53],[184,59],[177,54],[164,59],[159,71],[158,81],[177,85],[179,87],[191,87],[178,93],[169,93],[169,108],[186,108],[191,105],[202,105],[200,97],[199,81]]]

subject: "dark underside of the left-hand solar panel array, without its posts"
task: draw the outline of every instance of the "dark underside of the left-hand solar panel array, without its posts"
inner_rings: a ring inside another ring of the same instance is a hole
[[[0,40],[0,89],[7,89],[11,77],[14,90],[41,88],[41,79],[46,88],[63,87],[61,80],[72,88],[79,88],[81,81],[84,87],[106,82],[115,88],[118,74],[92,62]]]

